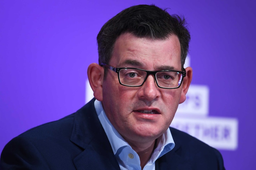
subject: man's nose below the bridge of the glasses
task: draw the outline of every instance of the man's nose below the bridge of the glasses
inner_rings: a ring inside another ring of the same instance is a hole
[[[141,99],[152,101],[155,98],[158,98],[159,95],[160,92],[155,82],[154,75],[148,75],[146,81],[138,91],[138,97]]]

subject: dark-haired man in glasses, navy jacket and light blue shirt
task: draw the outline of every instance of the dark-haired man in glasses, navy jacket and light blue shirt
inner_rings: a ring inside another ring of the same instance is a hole
[[[133,6],[98,36],[88,67],[94,99],[55,122],[12,139],[1,169],[225,169],[220,153],[169,128],[186,99],[185,20],[154,5]]]

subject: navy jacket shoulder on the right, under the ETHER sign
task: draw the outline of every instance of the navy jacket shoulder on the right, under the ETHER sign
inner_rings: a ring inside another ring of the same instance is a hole
[[[220,152],[197,138],[170,127],[175,147],[170,154],[175,154],[193,167],[192,169],[225,169]]]

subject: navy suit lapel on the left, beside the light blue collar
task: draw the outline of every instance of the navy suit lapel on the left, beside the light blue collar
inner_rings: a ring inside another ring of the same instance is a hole
[[[74,126],[70,140],[78,145],[82,152],[74,158],[76,169],[118,169],[108,137],[98,119],[95,99],[75,113]]]

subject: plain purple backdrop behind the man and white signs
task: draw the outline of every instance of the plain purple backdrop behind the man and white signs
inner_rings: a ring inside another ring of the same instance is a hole
[[[96,36],[115,14],[156,4],[183,14],[191,32],[192,84],[210,89],[209,116],[237,118],[238,148],[220,150],[226,169],[256,156],[255,1],[0,1],[0,152],[13,137],[85,103]]]

